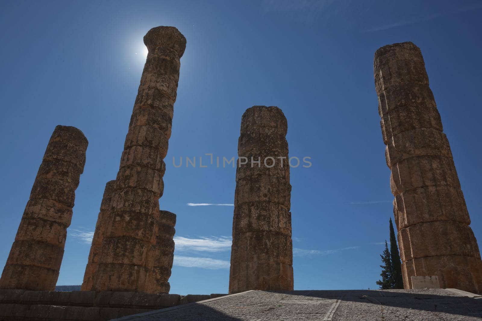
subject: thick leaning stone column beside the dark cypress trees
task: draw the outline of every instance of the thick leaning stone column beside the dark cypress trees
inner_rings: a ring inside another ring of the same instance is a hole
[[[437,275],[443,288],[480,293],[479,247],[420,49],[378,49],[374,74],[404,287]]]

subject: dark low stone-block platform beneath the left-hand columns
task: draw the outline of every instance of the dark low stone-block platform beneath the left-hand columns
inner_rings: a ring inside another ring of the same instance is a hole
[[[0,290],[0,321],[105,321],[222,295]]]

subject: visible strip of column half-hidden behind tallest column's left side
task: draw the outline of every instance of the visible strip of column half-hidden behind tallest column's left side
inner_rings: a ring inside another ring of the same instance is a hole
[[[97,265],[99,263],[100,250],[102,247],[102,241],[106,234],[107,227],[110,226],[112,215],[110,212],[110,202],[112,200],[112,194],[114,192],[115,180],[108,181],[106,188],[104,189],[104,195],[102,196],[102,202],[100,204],[100,212],[97,216],[97,223],[95,224],[94,237],[92,239],[91,250],[89,253],[89,260],[85,267],[84,280],[81,291],[91,291],[93,285],[94,273],[97,271]]]

